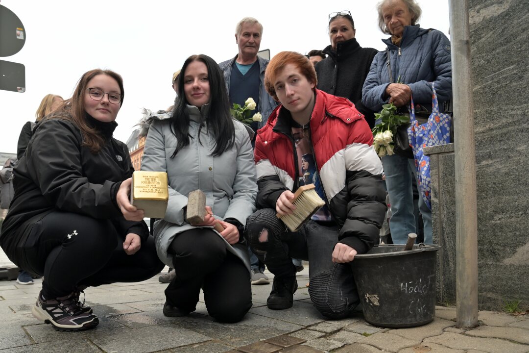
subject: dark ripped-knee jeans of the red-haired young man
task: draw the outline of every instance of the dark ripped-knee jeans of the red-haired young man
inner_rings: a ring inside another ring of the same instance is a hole
[[[291,232],[276,216],[276,210],[262,209],[247,221],[244,234],[250,248],[265,261],[276,277],[296,275],[292,258],[310,263],[308,294],[316,309],[330,319],[349,316],[360,302],[352,267],[332,262],[338,242],[338,227],[309,220],[297,232]]]

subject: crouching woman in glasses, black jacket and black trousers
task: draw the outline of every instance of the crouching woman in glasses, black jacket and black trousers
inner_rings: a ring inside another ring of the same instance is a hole
[[[44,276],[32,313],[56,330],[99,323],[80,302],[87,286],[138,282],[163,268],[139,221],[143,211],[120,202],[134,171],[125,143],[112,137],[123,97],[120,75],[88,71],[74,95],[38,124],[14,168],[0,245],[13,263]]]

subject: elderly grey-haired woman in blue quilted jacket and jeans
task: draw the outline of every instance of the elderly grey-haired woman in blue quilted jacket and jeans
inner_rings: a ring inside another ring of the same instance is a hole
[[[377,10],[380,30],[391,37],[382,40],[387,50],[373,59],[362,88],[362,103],[375,111],[380,111],[383,104],[393,103],[407,112],[413,95],[416,111],[431,111],[430,83],[434,82],[442,106],[452,96],[448,38],[440,31],[419,27],[421,8],[414,0],[383,0]],[[415,162],[392,155],[382,157],[382,165],[393,213],[389,222],[391,237],[394,243],[405,243],[408,233],[417,232],[412,191]],[[432,213],[422,197],[419,210],[424,222],[424,242],[432,243]]]

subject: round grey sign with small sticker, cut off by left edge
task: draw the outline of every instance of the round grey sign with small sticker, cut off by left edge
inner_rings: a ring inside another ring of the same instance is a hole
[[[0,57],[15,55],[26,42],[22,21],[7,7],[0,5]]]

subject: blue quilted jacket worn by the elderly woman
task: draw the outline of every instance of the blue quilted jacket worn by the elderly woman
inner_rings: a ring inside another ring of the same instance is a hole
[[[412,90],[413,101],[428,111],[432,110],[432,86],[439,99],[439,105],[452,97],[452,64],[450,41],[434,29],[406,26],[397,47],[391,38],[383,39],[389,49],[393,82],[407,84]],[[380,51],[373,59],[371,69],[362,88],[362,103],[374,111],[380,111],[387,104],[386,88],[389,85],[387,51]]]

